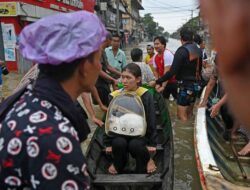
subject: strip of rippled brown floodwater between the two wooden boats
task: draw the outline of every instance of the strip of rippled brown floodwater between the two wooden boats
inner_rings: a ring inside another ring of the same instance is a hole
[[[174,132],[174,189],[201,189],[194,152],[194,117],[183,124],[176,117],[176,103],[169,103]]]

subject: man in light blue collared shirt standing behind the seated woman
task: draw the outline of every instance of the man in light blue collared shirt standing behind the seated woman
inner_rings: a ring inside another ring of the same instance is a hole
[[[120,36],[113,35],[111,46],[105,49],[108,63],[116,70],[120,71],[127,65],[126,56],[124,51],[120,48]],[[118,78],[118,77],[115,77]]]

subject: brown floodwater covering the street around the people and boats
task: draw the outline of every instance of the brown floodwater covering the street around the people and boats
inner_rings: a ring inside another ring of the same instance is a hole
[[[141,43],[137,47],[141,48],[146,54],[146,45],[148,43]],[[170,39],[167,48],[172,52],[180,46],[180,42],[174,39]],[[134,46],[136,47],[136,46]],[[131,48],[126,49],[126,55],[128,58],[128,63],[131,62],[130,59]],[[3,77],[3,94],[8,96],[12,93],[13,89],[18,84],[22,75],[18,73],[10,73]],[[176,118],[176,103],[168,102],[169,110],[171,114],[173,132],[174,132],[174,148],[175,148],[175,190],[198,190],[201,189],[199,176],[196,168],[196,161],[194,156],[194,145],[193,145],[193,129],[194,129],[194,117],[188,121],[186,124],[179,122]],[[102,117],[102,113],[98,106],[94,106],[97,115]],[[95,125],[91,122],[92,132],[95,129]],[[91,138],[91,135],[90,135]],[[86,150],[90,138],[82,145],[83,149]]]

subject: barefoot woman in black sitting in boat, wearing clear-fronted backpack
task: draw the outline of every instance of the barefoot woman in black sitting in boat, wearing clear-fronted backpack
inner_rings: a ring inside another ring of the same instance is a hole
[[[123,173],[128,153],[136,160],[136,173],[152,173],[156,170],[150,153],[156,151],[156,125],[153,96],[140,87],[141,70],[134,63],[124,67],[124,88],[111,93],[111,101],[105,123],[104,144],[106,153],[112,153],[110,174]]]

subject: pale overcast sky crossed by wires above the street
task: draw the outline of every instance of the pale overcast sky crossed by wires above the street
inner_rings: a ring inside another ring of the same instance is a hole
[[[164,27],[169,33],[175,32],[182,24],[186,23],[192,15],[198,15],[197,0],[142,0],[145,10],[140,15],[151,13],[154,21]]]

